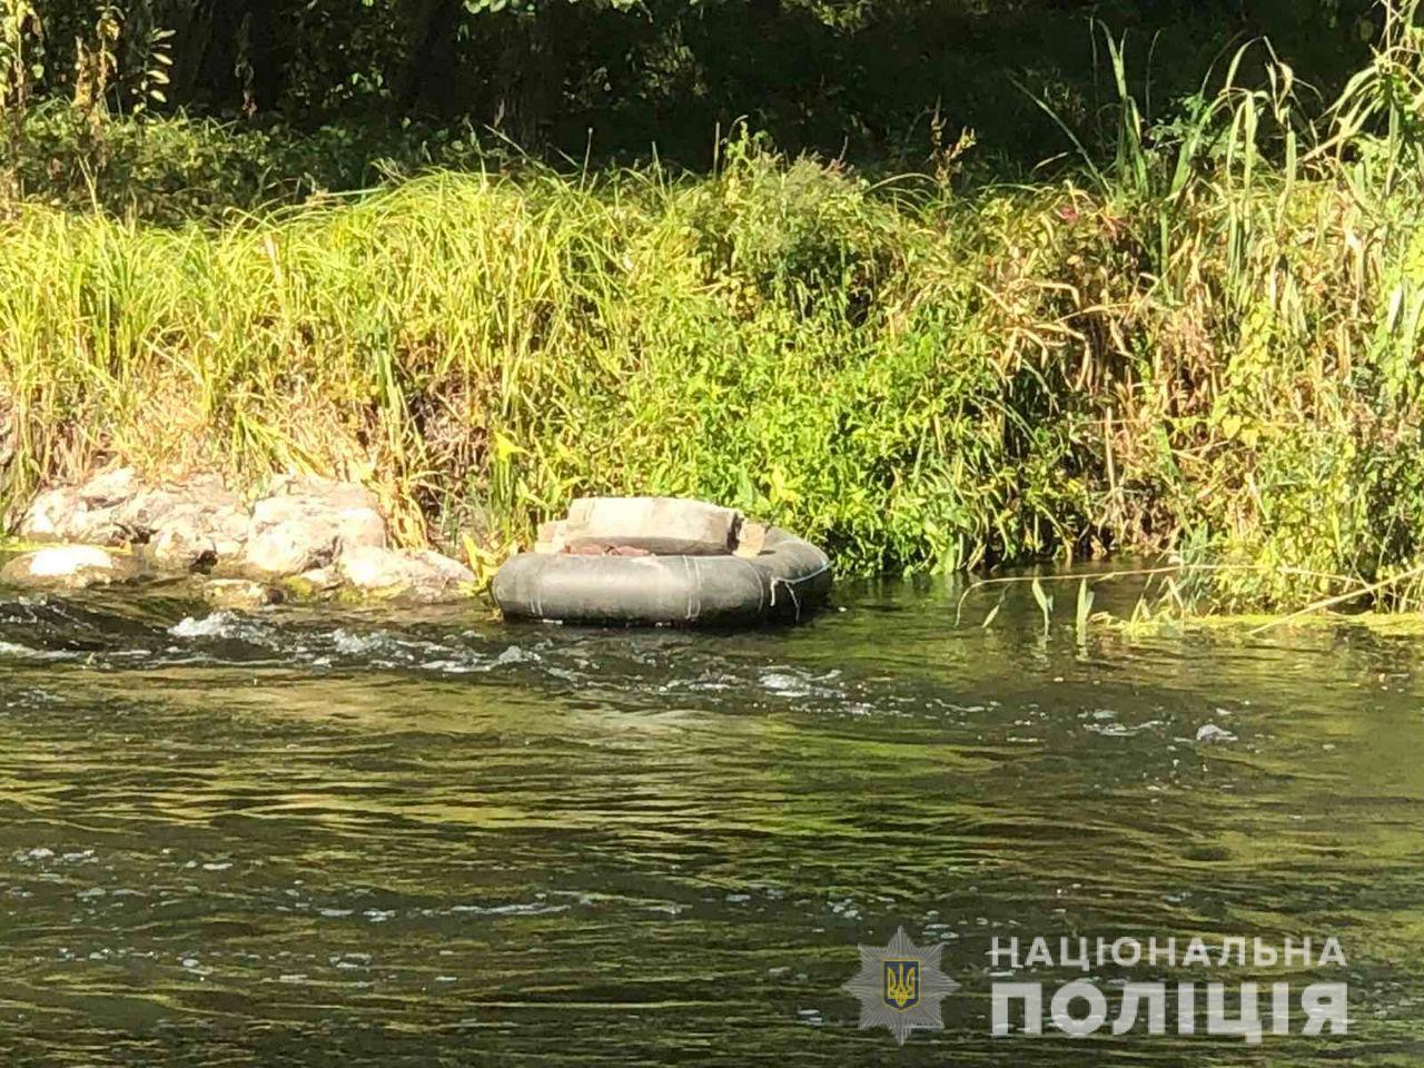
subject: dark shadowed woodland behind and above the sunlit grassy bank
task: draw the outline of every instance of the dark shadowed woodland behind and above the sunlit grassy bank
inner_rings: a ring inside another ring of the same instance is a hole
[[[1153,104],[1195,90],[1236,40],[1270,34],[1312,84],[1333,91],[1377,28],[1368,0],[47,0],[37,9],[36,90],[48,100],[302,128],[488,125],[530,150],[617,157],[656,144],[662,158],[699,168],[716,131],[739,118],[792,150],[920,164],[931,115],[977,130],[995,158],[1037,164],[1059,150],[1057,130],[1005,90],[1005,74],[1095,125],[1112,91],[1095,68],[1089,19],[1135,50],[1131,90],[1149,120]]]

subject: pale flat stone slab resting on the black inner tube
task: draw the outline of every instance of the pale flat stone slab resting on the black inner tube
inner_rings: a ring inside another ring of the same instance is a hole
[[[578,497],[564,538],[571,550],[628,545],[668,555],[722,555],[736,548],[742,513],[678,497]]]

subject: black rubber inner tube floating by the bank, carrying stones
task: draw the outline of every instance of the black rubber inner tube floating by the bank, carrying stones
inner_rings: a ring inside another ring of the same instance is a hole
[[[510,619],[678,627],[799,619],[829,591],[826,554],[778,527],[755,557],[520,553],[493,585]]]

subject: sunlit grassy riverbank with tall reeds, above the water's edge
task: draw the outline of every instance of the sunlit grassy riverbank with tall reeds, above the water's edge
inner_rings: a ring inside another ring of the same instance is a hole
[[[498,555],[572,494],[688,494],[843,571],[1175,550],[1215,608],[1418,608],[1415,33],[1323,114],[1259,46],[1171,124],[1124,95],[1116,155],[1038,187],[742,138],[224,225],[14,204],[4,504],[107,457],[299,467]]]

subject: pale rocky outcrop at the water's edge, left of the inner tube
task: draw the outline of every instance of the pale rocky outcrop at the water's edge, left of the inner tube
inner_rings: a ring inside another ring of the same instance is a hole
[[[63,550],[73,557],[73,580],[51,585],[78,588],[121,572],[199,572],[214,577],[204,597],[232,607],[271,604],[278,584],[302,597],[349,587],[426,602],[466,595],[474,581],[468,568],[437,553],[390,550],[373,493],[315,476],[282,476],[249,507],[215,476],[155,486],[121,467],[38,494],[17,533],[26,541],[84,543]],[[124,562],[107,567],[100,557]],[[30,582],[24,560],[6,568],[6,581]],[[56,577],[64,571],[61,557],[43,557],[40,565]]]

